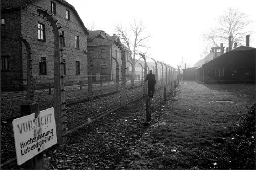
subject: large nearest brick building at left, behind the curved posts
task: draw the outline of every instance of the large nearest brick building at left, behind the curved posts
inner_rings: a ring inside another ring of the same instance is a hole
[[[35,89],[53,84],[54,33],[36,10],[48,10],[61,26],[65,84],[87,82],[88,31],[75,8],[64,0],[1,0],[1,90],[23,90],[27,84],[27,51],[31,47]]]

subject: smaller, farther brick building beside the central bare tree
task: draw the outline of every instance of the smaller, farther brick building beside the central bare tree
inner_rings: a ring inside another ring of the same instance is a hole
[[[110,36],[109,34],[105,35],[105,33],[101,31],[102,30],[89,31],[89,37],[87,39],[87,49],[92,60],[90,64],[93,66],[92,79],[97,81],[115,80],[117,65],[119,78],[121,79],[121,51],[113,43],[113,41],[119,43],[121,43],[121,41],[119,37],[116,36],[116,34]],[[96,37],[100,33],[104,38]],[[124,50],[127,60],[129,59],[128,55],[130,55],[130,50],[125,46]],[[115,59],[113,59],[112,57]]]

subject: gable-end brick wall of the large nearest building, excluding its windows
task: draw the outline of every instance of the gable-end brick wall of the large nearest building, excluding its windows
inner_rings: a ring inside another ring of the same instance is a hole
[[[85,34],[84,28],[80,23],[78,17],[70,7],[59,3],[59,1],[52,1],[56,3],[56,15],[53,15],[53,17],[58,20],[57,24],[58,26],[62,27],[61,31],[65,32],[65,46],[63,46],[63,48],[65,49],[63,51],[63,59],[66,60],[66,78],[64,80],[65,84],[77,84],[78,81],[83,81],[83,83],[87,83],[87,57],[83,53],[83,50],[87,50],[87,35]],[[45,86],[48,83],[53,84],[54,34],[52,32],[52,27],[49,25],[49,22],[47,23],[46,20],[44,20],[42,16],[38,16],[38,13],[36,12],[38,8],[37,6],[41,6],[43,9],[51,11],[51,1],[40,0],[33,2],[33,4],[34,5],[29,4],[25,8],[21,9],[19,22],[21,27],[21,34],[23,38],[27,39],[31,46],[31,56],[33,60],[33,80],[35,88],[37,89],[41,86]],[[66,19],[66,9],[70,11],[70,21]],[[12,14],[9,15],[12,16]],[[13,22],[10,25],[10,29],[15,27],[14,23],[17,24],[19,22]],[[38,23],[42,23],[45,25],[46,41],[38,40]],[[79,36],[79,49],[75,48],[75,36]],[[14,50],[14,48],[9,49],[9,51],[12,50]],[[20,64],[15,67],[20,68],[19,71],[22,72],[23,84],[26,84],[27,54],[24,45],[21,46],[21,50],[22,52],[19,55],[22,56],[22,59],[20,58],[22,66]],[[39,57],[46,57],[47,74],[45,75],[39,74]],[[80,74],[76,74],[75,61],[80,62]],[[10,67],[12,67],[11,65],[12,63],[10,63]],[[11,74],[9,74],[9,77],[14,78],[14,76]]]

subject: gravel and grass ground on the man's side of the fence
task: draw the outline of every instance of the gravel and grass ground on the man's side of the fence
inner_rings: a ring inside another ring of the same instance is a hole
[[[150,125],[143,98],[48,149],[45,168],[229,169],[229,142],[253,103],[255,84],[181,82],[167,101],[156,92]]]

